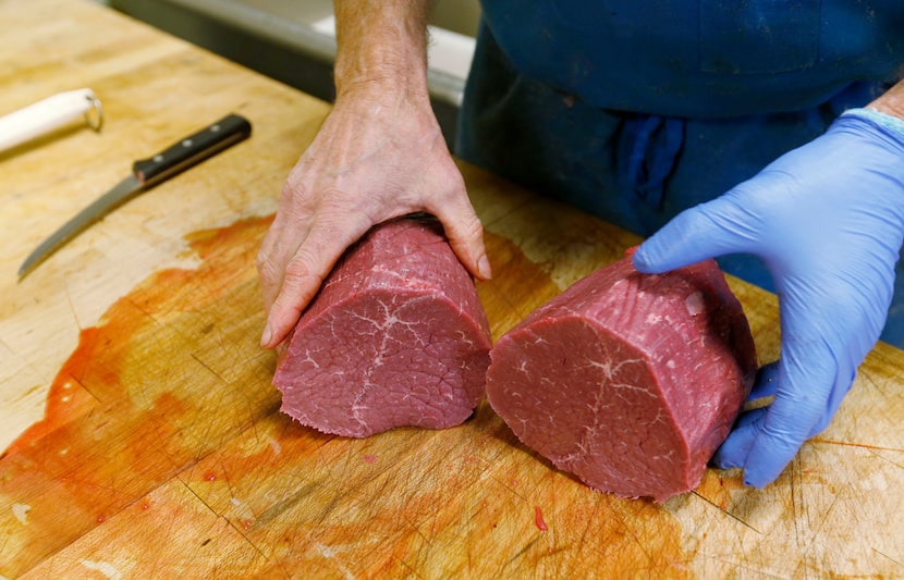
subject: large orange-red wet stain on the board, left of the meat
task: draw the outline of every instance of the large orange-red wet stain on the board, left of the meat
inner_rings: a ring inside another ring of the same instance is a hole
[[[23,573],[274,412],[255,340],[254,260],[270,220],[192,234],[196,269],[152,273],[81,331],[44,419],[0,455],[0,504],[30,506],[21,538],[0,546],[15,563],[4,572]]]

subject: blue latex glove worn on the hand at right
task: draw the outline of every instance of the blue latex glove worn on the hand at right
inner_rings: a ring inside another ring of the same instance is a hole
[[[637,270],[659,273],[726,254],[762,258],[780,300],[781,358],[760,370],[743,415],[716,453],[744,483],[772,482],[834,417],[878,341],[904,237],[904,127],[848,111],[721,197],[688,209],[645,242]]]

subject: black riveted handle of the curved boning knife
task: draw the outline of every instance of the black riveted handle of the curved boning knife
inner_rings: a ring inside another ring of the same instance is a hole
[[[247,119],[229,114],[156,156],[135,161],[132,172],[145,186],[159,183],[245,140],[251,134],[252,124]]]

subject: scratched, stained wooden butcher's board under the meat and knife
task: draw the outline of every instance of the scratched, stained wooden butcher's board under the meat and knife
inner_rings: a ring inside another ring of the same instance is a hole
[[[109,9],[0,0],[0,114],[88,86],[84,127],[0,156],[0,577],[904,576],[904,353],[879,345],[773,485],[708,470],[662,505],[589,491],[486,404],[364,441],[283,417],[254,256],[326,103]],[[228,112],[254,135],[21,283],[58,224]],[[496,336],[637,239],[463,166]],[[773,296],[737,281],[760,357]]]

